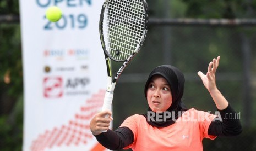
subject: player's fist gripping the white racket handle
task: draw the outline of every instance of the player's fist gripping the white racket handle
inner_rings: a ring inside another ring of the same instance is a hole
[[[106,118],[106,116],[109,116]],[[97,113],[90,122],[90,130],[93,135],[99,135],[102,131],[110,129],[110,122],[113,120],[111,117],[112,112],[109,110]]]

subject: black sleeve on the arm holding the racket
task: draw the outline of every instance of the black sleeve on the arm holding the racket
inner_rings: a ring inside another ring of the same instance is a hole
[[[122,149],[134,140],[133,132],[128,127],[119,127],[116,131],[107,130],[95,137],[102,146],[110,150]]]

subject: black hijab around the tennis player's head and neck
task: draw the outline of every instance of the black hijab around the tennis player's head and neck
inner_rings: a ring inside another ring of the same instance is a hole
[[[181,98],[183,96],[183,91],[184,91],[184,83],[185,83],[185,78],[183,73],[179,71],[178,68],[171,65],[162,65],[162,66],[156,67],[149,74],[148,80],[146,81],[145,89],[144,89],[145,97],[146,97],[146,91],[148,90],[150,80],[152,79],[152,77],[154,77],[154,75],[161,75],[167,80],[168,84],[170,85],[171,93],[172,93],[172,104],[164,112],[175,113],[175,119],[177,120],[178,117],[181,116],[181,113],[178,113],[178,112],[187,111],[186,106],[181,101]],[[150,107],[148,108],[148,111],[153,112]],[[160,115],[164,114],[164,112],[160,113]],[[143,115],[146,119],[148,119],[147,114],[143,114]],[[152,126],[166,127],[175,123],[176,120],[173,121],[173,118],[171,117],[171,118],[167,118],[166,121],[157,121],[156,117],[154,117],[154,121],[152,120],[147,120],[147,121]]]

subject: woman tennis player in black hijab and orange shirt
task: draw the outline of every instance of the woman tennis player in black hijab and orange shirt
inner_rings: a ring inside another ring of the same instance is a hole
[[[132,115],[112,131],[109,130],[112,117],[105,118],[111,111],[100,112],[90,122],[92,134],[111,150],[203,150],[203,138],[239,135],[242,132],[239,119],[225,118],[227,114],[235,117],[236,112],[216,86],[219,61],[220,56],[209,63],[206,75],[198,72],[219,114],[187,109],[181,102],[184,75],[176,67],[162,65],[153,69],[145,84],[149,105],[146,114]]]

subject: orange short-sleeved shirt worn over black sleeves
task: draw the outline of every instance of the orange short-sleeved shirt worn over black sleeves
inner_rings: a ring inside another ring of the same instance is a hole
[[[124,149],[133,150],[203,150],[203,138],[208,135],[208,127],[216,115],[194,108],[184,112],[176,123],[167,127],[154,127],[148,124],[143,115],[128,117],[120,127],[133,131],[134,142]]]

